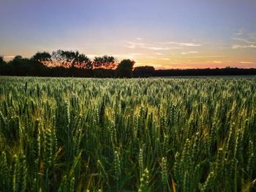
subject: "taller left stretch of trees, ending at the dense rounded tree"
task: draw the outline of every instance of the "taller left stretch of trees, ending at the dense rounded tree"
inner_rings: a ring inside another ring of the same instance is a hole
[[[16,55],[11,61],[0,57],[0,75],[40,77],[132,77],[135,61],[118,62],[113,56],[93,60],[78,51],[37,52],[31,58]]]

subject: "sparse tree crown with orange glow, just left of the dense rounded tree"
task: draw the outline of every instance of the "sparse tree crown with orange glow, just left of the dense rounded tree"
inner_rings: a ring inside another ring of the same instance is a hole
[[[114,69],[116,67],[116,59],[113,56],[104,55],[94,58],[94,69]]]

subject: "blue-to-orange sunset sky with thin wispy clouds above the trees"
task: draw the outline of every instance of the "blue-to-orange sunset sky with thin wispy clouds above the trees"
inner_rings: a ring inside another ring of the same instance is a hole
[[[157,69],[256,67],[256,1],[0,1],[6,60],[58,49]]]

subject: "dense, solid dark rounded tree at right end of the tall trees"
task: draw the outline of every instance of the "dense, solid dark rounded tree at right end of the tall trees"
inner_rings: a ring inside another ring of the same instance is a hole
[[[132,68],[135,64],[135,61],[130,59],[124,59],[118,64],[116,71],[118,77],[131,77],[132,76]]]

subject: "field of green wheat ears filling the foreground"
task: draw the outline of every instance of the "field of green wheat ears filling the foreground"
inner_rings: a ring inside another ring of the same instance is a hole
[[[255,155],[255,77],[0,77],[0,191],[256,191]]]

